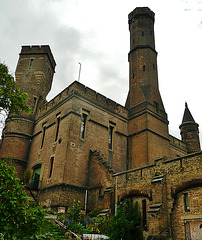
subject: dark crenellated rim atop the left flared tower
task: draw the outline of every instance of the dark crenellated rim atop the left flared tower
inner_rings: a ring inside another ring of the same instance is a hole
[[[39,55],[46,54],[51,62],[53,70],[55,69],[56,62],[53,57],[49,45],[33,45],[33,46],[22,46],[20,55]]]

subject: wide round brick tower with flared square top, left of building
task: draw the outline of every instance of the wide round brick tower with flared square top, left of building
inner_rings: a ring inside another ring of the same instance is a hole
[[[12,158],[19,177],[27,165],[37,108],[51,89],[55,66],[49,46],[22,47],[15,76],[21,91],[29,94],[33,112],[9,115],[0,149],[1,158]]]

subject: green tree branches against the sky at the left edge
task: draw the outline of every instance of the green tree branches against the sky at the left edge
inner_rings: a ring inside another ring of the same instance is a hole
[[[0,112],[6,111],[19,115],[20,111],[31,113],[31,108],[25,103],[27,93],[21,93],[8,67],[0,63]]]

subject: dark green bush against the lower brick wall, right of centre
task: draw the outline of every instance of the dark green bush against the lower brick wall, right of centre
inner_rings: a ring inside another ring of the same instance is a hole
[[[138,203],[125,199],[117,208],[117,214],[111,218],[109,236],[111,240],[130,239],[140,228],[141,213]]]

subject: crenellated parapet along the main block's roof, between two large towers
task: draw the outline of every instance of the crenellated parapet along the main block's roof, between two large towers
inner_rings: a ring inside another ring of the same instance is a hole
[[[59,102],[62,102],[63,100],[65,100],[67,97],[70,96],[70,94],[74,92],[79,95],[82,95],[89,101],[99,104],[102,107],[107,108],[117,114],[121,114],[122,116],[125,116],[125,117],[128,116],[128,110],[125,107],[103,96],[102,94],[94,91],[93,89],[86,87],[85,85],[83,85],[82,83],[79,83],[78,81],[74,81],[71,85],[69,85],[66,89],[64,89],[60,94],[54,97],[50,102],[48,102],[44,106],[44,108],[41,108],[39,110],[38,114],[42,115],[47,110],[50,110],[55,105],[57,105]]]

